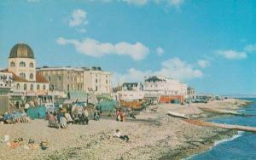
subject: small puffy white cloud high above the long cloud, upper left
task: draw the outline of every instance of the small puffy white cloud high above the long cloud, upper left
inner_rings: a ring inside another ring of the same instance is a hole
[[[83,9],[75,9],[68,20],[68,24],[72,27],[86,25],[88,23],[86,18],[86,12]]]

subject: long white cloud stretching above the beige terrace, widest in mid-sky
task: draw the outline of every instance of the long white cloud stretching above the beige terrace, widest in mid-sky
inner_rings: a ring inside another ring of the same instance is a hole
[[[73,44],[74,48],[80,54],[86,54],[93,57],[102,57],[106,54],[119,54],[131,56],[133,60],[143,60],[149,53],[149,49],[142,43],[101,43],[95,39],[85,38],[82,41],[75,39],[65,39],[59,37],[56,40],[61,45]]]

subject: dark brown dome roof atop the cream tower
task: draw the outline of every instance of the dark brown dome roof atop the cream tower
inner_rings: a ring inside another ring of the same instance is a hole
[[[26,43],[17,43],[11,49],[9,53],[9,58],[30,58],[34,59],[34,54],[29,45]]]

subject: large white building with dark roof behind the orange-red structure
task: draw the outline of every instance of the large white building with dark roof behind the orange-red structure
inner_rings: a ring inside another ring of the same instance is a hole
[[[148,77],[145,79],[144,91],[162,95],[187,95],[187,84],[166,77]]]

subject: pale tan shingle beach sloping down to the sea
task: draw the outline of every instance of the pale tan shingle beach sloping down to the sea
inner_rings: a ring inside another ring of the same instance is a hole
[[[201,107],[236,111],[247,103],[230,99],[184,106],[161,104],[157,105],[157,111],[141,111],[136,120],[127,118],[122,123],[102,118],[99,122],[91,120],[89,125],[68,125],[67,129],[48,128],[45,120],[0,124],[0,138],[9,134],[11,140],[22,137],[26,142],[49,141],[45,151],[26,150],[22,145],[9,149],[0,143],[0,159],[182,159],[209,149],[216,141],[232,137],[237,131],[195,126],[168,116],[167,111],[207,120],[225,115],[203,111]],[[128,135],[130,141],[114,138],[116,129]]]

